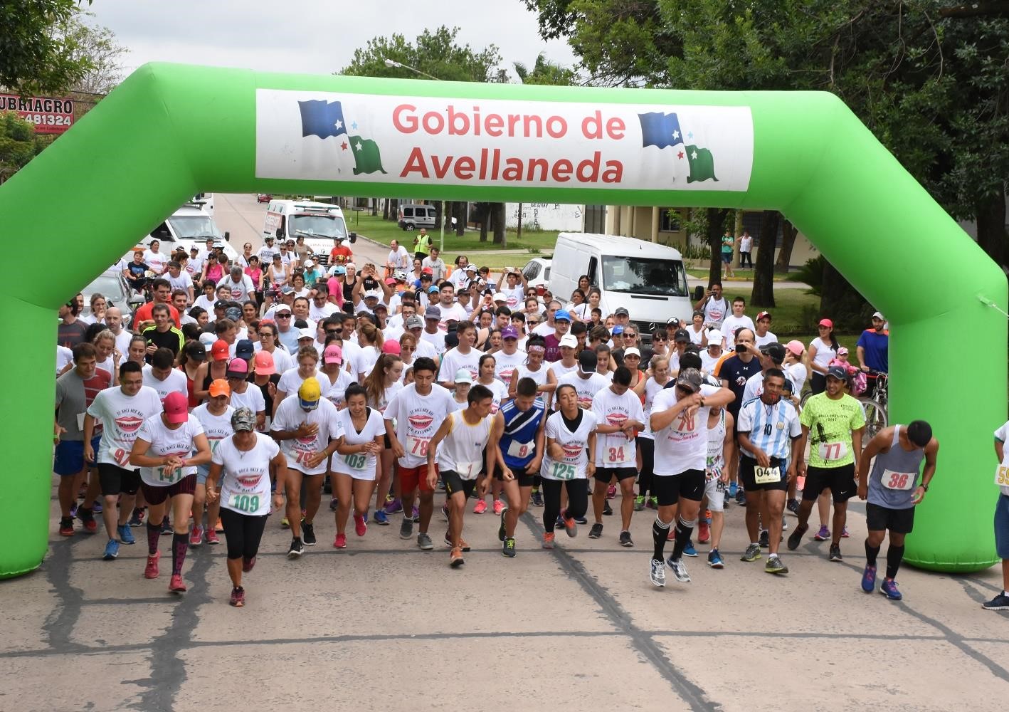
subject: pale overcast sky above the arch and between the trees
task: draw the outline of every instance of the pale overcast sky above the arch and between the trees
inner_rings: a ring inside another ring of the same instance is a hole
[[[457,40],[476,50],[496,44],[513,78],[513,62],[532,67],[541,52],[558,64],[575,61],[565,42],[540,38],[521,0],[95,0],[90,11],[129,48],[127,74],[154,61],[329,74],[371,37],[413,40],[441,24],[458,26]]]

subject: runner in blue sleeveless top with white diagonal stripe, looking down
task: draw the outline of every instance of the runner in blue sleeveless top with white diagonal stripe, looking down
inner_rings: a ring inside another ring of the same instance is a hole
[[[515,527],[519,517],[529,509],[533,481],[543,461],[543,425],[547,407],[542,398],[536,397],[536,381],[519,379],[515,399],[501,406],[494,415],[493,439],[497,439],[504,465],[511,470],[494,468],[494,477],[501,481],[508,507],[501,512],[497,538],[501,553],[515,556]]]

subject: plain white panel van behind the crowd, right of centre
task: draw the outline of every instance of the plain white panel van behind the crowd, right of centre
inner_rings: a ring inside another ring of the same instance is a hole
[[[665,326],[672,316],[689,321],[687,273],[672,247],[634,237],[561,232],[550,269],[554,298],[567,304],[582,275],[599,288],[603,317],[626,308],[644,341],[651,338],[651,324]]]

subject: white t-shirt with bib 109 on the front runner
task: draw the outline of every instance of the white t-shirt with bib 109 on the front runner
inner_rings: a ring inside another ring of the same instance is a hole
[[[250,450],[235,447],[232,437],[220,441],[211,462],[221,467],[221,506],[239,514],[269,514],[269,461],[281,451],[269,435],[255,433]]]

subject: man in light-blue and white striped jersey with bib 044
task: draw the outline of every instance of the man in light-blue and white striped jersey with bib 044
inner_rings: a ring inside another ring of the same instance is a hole
[[[802,426],[795,406],[781,397],[784,387],[785,374],[781,369],[764,371],[760,397],[740,407],[740,421],[736,426],[741,448],[740,479],[747,493],[747,532],[750,534],[750,545],[743,561],[754,562],[761,556],[757,516],[763,513],[769,530],[769,553],[764,567],[768,574],[788,573],[788,567],[778,556],[781,515],[785,511],[788,483],[795,479],[795,462],[801,455],[798,447]]]

